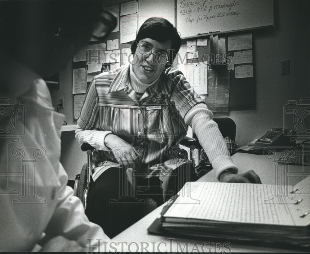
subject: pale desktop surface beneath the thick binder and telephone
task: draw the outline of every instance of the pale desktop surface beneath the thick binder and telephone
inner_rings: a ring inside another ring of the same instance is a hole
[[[239,173],[247,170],[254,170],[264,184],[289,184],[295,185],[302,177],[310,174],[309,166],[295,166],[287,164],[277,164],[274,156],[251,155],[237,153],[232,156],[234,163],[239,169]],[[198,181],[215,182],[215,173],[210,171]],[[194,240],[186,238],[175,238],[161,235],[148,234],[147,228],[159,216],[164,205],[156,208],[153,212],[136,222],[134,225],[115,236],[111,242],[117,246],[119,252],[298,252],[297,250],[283,248],[283,245],[273,245],[272,247],[264,243],[247,242],[220,242],[214,239]],[[123,246],[123,247],[122,247]]]

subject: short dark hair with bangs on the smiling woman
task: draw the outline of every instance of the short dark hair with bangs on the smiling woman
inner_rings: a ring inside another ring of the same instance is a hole
[[[168,66],[170,66],[181,46],[181,38],[176,28],[164,18],[149,18],[145,20],[139,29],[135,41],[131,44],[131,53],[135,53],[137,43],[145,38],[150,38],[157,42],[166,42],[171,39],[168,62]]]

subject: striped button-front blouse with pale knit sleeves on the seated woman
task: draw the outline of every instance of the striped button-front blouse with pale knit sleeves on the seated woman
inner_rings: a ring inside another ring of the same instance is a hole
[[[88,142],[97,149],[93,156],[94,181],[106,169],[119,167],[116,152],[112,154],[104,144],[110,133],[139,151],[139,171],[145,177],[158,176],[163,180],[166,173],[188,163],[178,146],[188,125],[197,134],[218,175],[228,168],[237,169],[212,120],[212,112],[182,72],[167,68],[138,100],[131,86],[130,69],[127,66],[99,74],[87,91],[76,137],[80,143]]]

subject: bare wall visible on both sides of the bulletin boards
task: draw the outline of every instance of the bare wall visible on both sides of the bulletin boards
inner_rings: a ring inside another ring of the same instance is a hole
[[[237,124],[236,141],[242,146],[259,138],[272,127],[283,126],[283,107],[287,100],[299,101],[309,98],[309,2],[276,2],[276,28],[255,30],[253,32],[255,109],[230,109],[229,117]],[[114,2],[112,3],[114,4]],[[280,60],[290,59],[290,75],[280,75]],[[60,89],[51,90],[53,106],[59,98],[65,98],[65,109],[60,112],[66,116],[68,124],[73,121],[72,63],[60,73]],[[215,114],[215,116],[224,116]],[[308,122],[305,122],[309,125]],[[293,123],[285,127],[293,128]],[[61,162],[74,179],[86,154],[79,150],[74,132],[62,133]]]

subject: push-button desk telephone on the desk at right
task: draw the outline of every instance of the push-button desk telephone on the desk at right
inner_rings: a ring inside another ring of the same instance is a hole
[[[259,138],[255,142],[255,146],[294,146],[296,143],[291,141],[291,138],[294,136],[296,136],[296,132],[294,130],[273,128]]]

